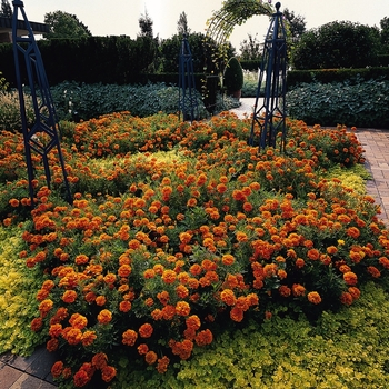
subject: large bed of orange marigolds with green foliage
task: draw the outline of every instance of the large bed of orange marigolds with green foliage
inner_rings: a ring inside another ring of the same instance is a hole
[[[377,205],[328,178],[363,162],[356,134],[289,121],[280,153],[248,146],[250,124],[228,112],[81,122],[61,143],[73,203],[52,152],[51,189],[34,159],[32,211],[22,139],[0,134],[0,216],[40,275],[30,327],[61,356],[63,388],[114,387],[123,360],[163,375],[223,328],[277,312],[316,322],[387,281]]]

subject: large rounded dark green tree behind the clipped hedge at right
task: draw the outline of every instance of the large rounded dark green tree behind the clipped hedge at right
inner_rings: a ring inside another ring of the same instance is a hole
[[[373,66],[378,53],[376,27],[335,21],[303,33],[292,63],[296,69],[363,68]]]

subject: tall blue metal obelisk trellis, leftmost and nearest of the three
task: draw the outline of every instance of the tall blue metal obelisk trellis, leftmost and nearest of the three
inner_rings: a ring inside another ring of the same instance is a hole
[[[34,151],[42,158],[47,184],[50,188],[51,173],[49,168],[48,153],[57,148],[57,157],[61,164],[63,183],[66,189],[66,198],[71,202],[71,193],[64,168],[63,157],[59,142],[59,126],[56,116],[54,104],[51,97],[49,83],[47,80],[43,61],[34,40],[34,36],[24,12],[23,2],[13,0],[13,17],[12,17],[12,42],[13,58],[16,68],[17,87],[19,90],[20,114],[24,138],[24,152],[27,162],[27,172],[29,180],[29,190],[31,197],[31,206],[33,206],[33,178],[34,168],[32,164],[32,152]],[[27,37],[18,37],[18,13],[21,13],[24,22],[24,28],[28,31]],[[20,44],[21,43],[21,44]],[[31,103],[34,111],[33,123],[28,123],[26,113],[26,101],[21,80],[21,57],[26,67],[28,83],[31,90]],[[39,91],[39,96],[38,96]]]

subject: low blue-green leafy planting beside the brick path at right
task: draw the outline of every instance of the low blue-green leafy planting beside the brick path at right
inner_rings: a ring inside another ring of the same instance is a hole
[[[389,128],[389,81],[305,83],[287,94],[289,116],[308,124]]]

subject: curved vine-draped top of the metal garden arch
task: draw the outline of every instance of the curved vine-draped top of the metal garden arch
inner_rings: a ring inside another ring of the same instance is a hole
[[[216,43],[225,43],[238,24],[257,14],[271,16],[273,9],[263,0],[227,0],[219,11],[208,20],[206,36]]]

